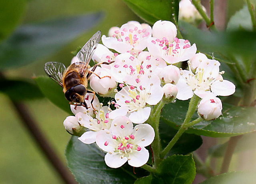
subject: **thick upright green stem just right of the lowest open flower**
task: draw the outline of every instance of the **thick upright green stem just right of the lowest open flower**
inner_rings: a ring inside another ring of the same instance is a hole
[[[161,152],[161,143],[160,143],[160,135],[159,135],[159,121],[160,121],[160,114],[162,108],[164,107],[164,102],[161,100],[157,105],[154,106],[150,118],[148,119],[148,124],[150,124],[155,131],[155,138],[151,144],[151,148],[154,154],[154,168],[160,163],[160,152]]]

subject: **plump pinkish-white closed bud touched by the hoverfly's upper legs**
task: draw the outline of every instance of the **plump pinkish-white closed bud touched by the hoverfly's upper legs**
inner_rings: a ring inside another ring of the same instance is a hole
[[[94,92],[102,95],[102,96],[111,96],[111,92],[116,88],[117,83],[113,77],[111,77],[109,69],[103,69],[97,67],[94,71],[98,74],[101,78],[92,74],[90,77],[90,87]],[[110,77],[108,77],[110,76]]]

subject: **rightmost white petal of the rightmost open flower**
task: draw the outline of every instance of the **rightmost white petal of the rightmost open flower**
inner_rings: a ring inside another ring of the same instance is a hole
[[[228,80],[216,81],[212,84],[211,90],[217,96],[229,96],[236,91],[236,86]]]

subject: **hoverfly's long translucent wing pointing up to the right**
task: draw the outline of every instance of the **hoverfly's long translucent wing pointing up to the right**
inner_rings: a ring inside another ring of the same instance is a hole
[[[94,51],[100,41],[100,31],[97,31],[90,39],[86,42],[84,47],[77,53],[74,63],[81,63],[81,74],[85,74],[88,70],[88,65],[94,54]],[[79,64],[78,64],[79,65]]]

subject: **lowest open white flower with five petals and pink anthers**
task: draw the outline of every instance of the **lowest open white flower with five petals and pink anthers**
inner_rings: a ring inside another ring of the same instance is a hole
[[[111,168],[118,168],[126,161],[133,167],[140,167],[149,159],[145,148],[154,140],[154,129],[148,124],[136,125],[125,116],[116,117],[110,130],[99,131],[96,144],[106,151],[105,162]]]

